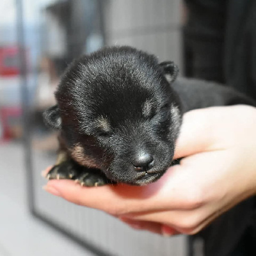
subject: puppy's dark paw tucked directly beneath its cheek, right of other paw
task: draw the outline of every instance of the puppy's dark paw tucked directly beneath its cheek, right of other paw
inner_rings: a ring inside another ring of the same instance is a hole
[[[84,170],[81,172],[75,182],[81,184],[81,186],[86,187],[97,187],[97,186],[103,186],[111,182],[103,173],[101,173],[99,170]]]

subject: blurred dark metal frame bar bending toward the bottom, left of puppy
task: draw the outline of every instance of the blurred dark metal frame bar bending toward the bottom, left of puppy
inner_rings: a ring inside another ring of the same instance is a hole
[[[31,126],[29,122],[29,105],[28,105],[28,77],[27,77],[27,63],[26,63],[26,44],[24,38],[24,15],[23,15],[23,1],[15,0],[17,6],[17,44],[19,47],[19,67],[20,67],[20,93],[22,100],[22,127],[24,131],[23,145],[24,145],[24,158],[26,164],[26,187],[28,195],[28,207],[32,216],[35,216],[40,221],[43,221],[50,227],[57,230],[62,235],[72,239],[86,250],[99,256],[111,256],[110,253],[104,252],[103,249],[98,248],[95,244],[88,243],[84,239],[76,236],[66,228],[54,223],[51,218],[44,216],[35,208],[35,196],[33,191],[33,170],[31,166],[31,138],[30,131]]]

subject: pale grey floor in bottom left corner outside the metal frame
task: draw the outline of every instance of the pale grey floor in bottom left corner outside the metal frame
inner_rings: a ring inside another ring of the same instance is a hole
[[[29,214],[19,143],[0,144],[0,175],[0,256],[92,255]]]

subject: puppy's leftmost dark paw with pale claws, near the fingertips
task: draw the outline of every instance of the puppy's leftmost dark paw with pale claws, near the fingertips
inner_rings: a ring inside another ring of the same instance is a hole
[[[61,164],[54,165],[49,173],[46,175],[46,179],[76,179],[77,170],[70,161],[65,161]]]

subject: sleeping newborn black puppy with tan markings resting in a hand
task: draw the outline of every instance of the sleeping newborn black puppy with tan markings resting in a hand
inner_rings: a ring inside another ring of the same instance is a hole
[[[154,182],[172,163],[184,111],[253,104],[217,84],[173,83],[177,74],[172,61],[159,64],[131,47],[75,60],[61,78],[58,104],[44,113],[45,122],[60,131],[58,161],[47,178],[83,186]]]

